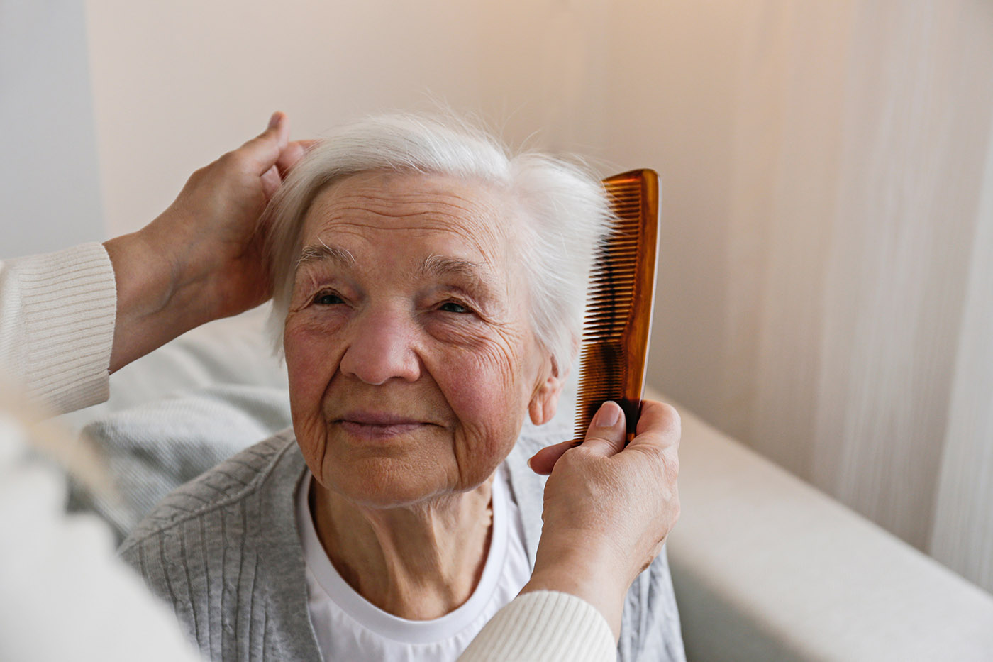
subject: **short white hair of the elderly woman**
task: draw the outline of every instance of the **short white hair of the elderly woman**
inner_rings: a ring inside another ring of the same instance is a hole
[[[513,202],[508,207],[522,217],[515,248],[526,273],[530,321],[564,376],[579,348],[593,256],[610,229],[612,215],[600,180],[548,154],[511,154],[466,121],[414,114],[373,116],[335,130],[300,160],[270,202],[266,223],[274,289],[269,328],[276,351],[282,349],[311,204],[334,182],[373,170],[478,179]]]

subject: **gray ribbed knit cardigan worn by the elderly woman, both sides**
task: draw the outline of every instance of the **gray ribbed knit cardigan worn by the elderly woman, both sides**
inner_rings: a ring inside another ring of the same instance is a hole
[[[527,424],[506,459],[532,567],[544,478],[526,459],[560,434]],[[174,491],[124,541],[123,559],[173,605],[205,657],[322,659],[294,513],[305,471],[293,430],[284,430]],[[628,593],[618,659],[685,659],[664,550]]]

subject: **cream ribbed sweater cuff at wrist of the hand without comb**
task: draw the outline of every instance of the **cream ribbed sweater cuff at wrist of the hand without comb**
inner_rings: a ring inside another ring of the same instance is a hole
[[[16,260],[28,394],[58,412],[109,397],[117,289],[100,244]]]

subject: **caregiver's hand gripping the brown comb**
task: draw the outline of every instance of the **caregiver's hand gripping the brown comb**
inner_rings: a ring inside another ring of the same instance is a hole
[[[582,597],[621,632],[625,595],[658,556],[679,517],[679,414],[642,401],[634,440],[625,416],[606,403],[583,443],[544,448],[529,464],[549,473],[534,573],[521,592],[560,590]]]

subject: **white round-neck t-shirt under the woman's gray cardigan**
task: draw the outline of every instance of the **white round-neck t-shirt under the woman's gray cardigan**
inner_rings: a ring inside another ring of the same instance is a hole
[[[307,565],[311,623],[327,662],[455,660],[531,577],[523,522],[504,466],[493,487],[493,536],[479,585],[456,610],[433,620],[407,620],[378,608],[342,579],[321,546],[308,505],[307,476],[297,488],[297,526]]]

